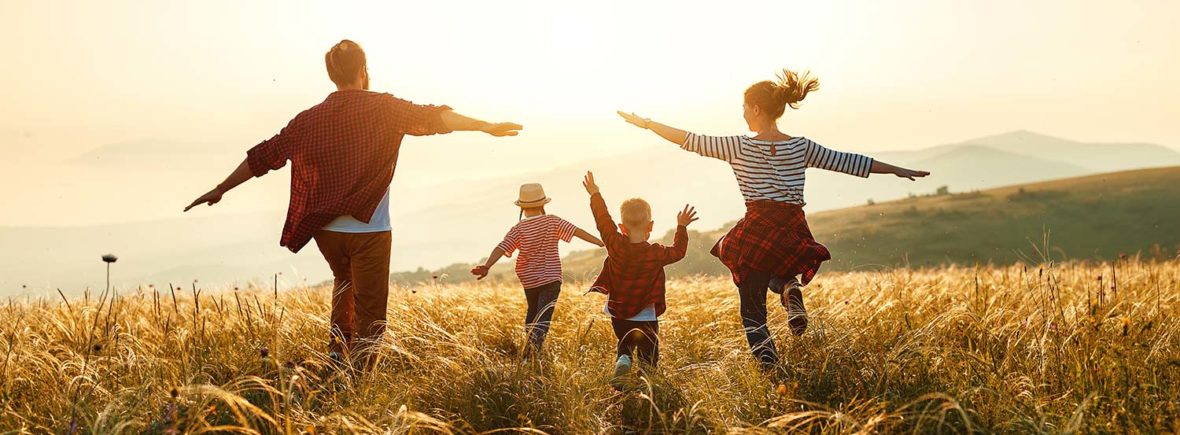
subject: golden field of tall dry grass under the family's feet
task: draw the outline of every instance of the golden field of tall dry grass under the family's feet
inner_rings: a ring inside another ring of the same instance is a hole
[[[326,363],[327,288],[13,299],[0,431],[1180,429],[1178,259],[821,273],[806,335],[772,310],[772,376],[746,350],[732,283],[680,278],[661,367],[628,394],[608,387],[602,296],[579,289],[539,363],[518,357],[514,285],[395,289],[369,374]]]

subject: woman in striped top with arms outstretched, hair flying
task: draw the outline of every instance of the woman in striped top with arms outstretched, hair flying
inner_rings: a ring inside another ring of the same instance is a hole
[[[819,167],[858,177],[892,173],[911,180],[930,174],[828,150],[805,137],[781,132],[778,120],[786,107],[799,108],[799,101],[818,88],[819,80],[789,70],[782,70],[776,81],[759,81],[747,88],[742,117],[755,133],[753,137],[700,136],[635,113],[618,112],[628,123],[651,130],[686,151],[725,160],[733,167],[746,199],[746,216],[717,240],[713,255],[733,272],[746,340],[766,369],[779,361],[766,325],[767,289],[780,295],[792,331],[802,335],[807,312],[799,288],[815,276],[822,262],[832,258],[807,228],[802,211],[804,171]]]

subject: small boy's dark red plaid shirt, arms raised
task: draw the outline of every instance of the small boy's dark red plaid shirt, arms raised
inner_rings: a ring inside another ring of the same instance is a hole
[[[602,242],[607,245],[607,259],[590,291],[607,295],[607,309],[615,318],[635,317],[648,305],[655,307],[656,316],[663,314],[668,308],[664,303],[663,268],[684,258],[684,252],[688,251],[688,229],[684,225],[676,226],[671,246],[648,242],[631,243],[618,232],[601,193],[590,196],[590,210]]]

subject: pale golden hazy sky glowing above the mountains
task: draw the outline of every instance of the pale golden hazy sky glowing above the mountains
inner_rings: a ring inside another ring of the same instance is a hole
[[[741,92],[780,67],[821,83],[781,128],[840,150],[1012,130],[1175,146],[1175,17],[1162,0],[2,0],[0,225],[181,217],[334,90],[322,59],[343,38],[375,91],[525,126],[408,139],[395,183],[422,189],[669,146],[615,110],[742,133]],[[153,159],[86,165],[127,144]],[[278,193],[215,212],[284,205],[284,179],[258,183]]]

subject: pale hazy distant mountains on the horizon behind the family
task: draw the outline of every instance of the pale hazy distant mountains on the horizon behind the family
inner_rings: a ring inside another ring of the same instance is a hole
[[[822,143],[821,138],[815,138]],[[241,150],[205,149],[177,144],[182,156],[168,154],[172,146],[158,141],[114,144],[84,154],[74,165],[85,167],[87,192],[60,185],[48,199],[65,200],[85,210],[117,210],[140,216],[182,216],[183,202],[206,187],[210,179],[241,159]],[[166,146],[165,146],[166,145]],[[825,144],[848,150],[843,144]],[[163,154],[162,154],[163,153]],[[910,195],[925,195],[939,186],[969,192],[1003,185],[1095,173],[1104,167],[1180,165],[1180,152],[1147,144],[1086,144],[1029,132],[940,145],[917,151],[871,153],[881,160],[925,169],[929,178],[910,182],[890,176],[870,179],[820,170],[807,172],[807,211],[818,213],[884,203]],[[205,160],[208,159],[208,160]],[[204,162],[204,163],[199,163]],[[529,163],[522,163],[529,167]],[[149,167],[149,176],[127,173],[126,167]],[[203,170],[205,172],[195,172]],[[542,183],[553,198],[548,210],[585,229],[592,228],[582,174],[598,176],[608,203],[615,207],[630,197],[651,202],[656,233],[673,228],[675,211],[691,203],[701,211],[697,228],[720,228],[738,219],[742,199],[729,167],[663,144],[625,156],[601,158],[545,171],[490,179],[421,184],[395,179],[392,189],[393,270],[433,270],[452,263],[470,263],[486,256],[517,222],[512,205],[523,183]],[[178,172],[179,171],[179,172]],[[286,203],[288,174],[278,173],[235,191],[211,212],[183,218],[91,228],[0,228],[0,295],[63,286],[81,289],[101,282],[96,258],[107,251],[124,256],[116,275],[123,283],[191,282],[228,285],[266,278],[283,271],[291,283],[329,278],[314,245],[297,256],[278,246],[282,211],[238,210],[250,205]],[[149,183],[151,189],[136,189]],[[107,193],[112,192],[112,193]],[[68,195],[65,199],[55,199]],[[99,196],[106,195],[106,196]],[[33,197],[35,195],[24,195]],[[209,216],[235,211],[235,215]],[[564,244],[569,253],[586,245]]]

